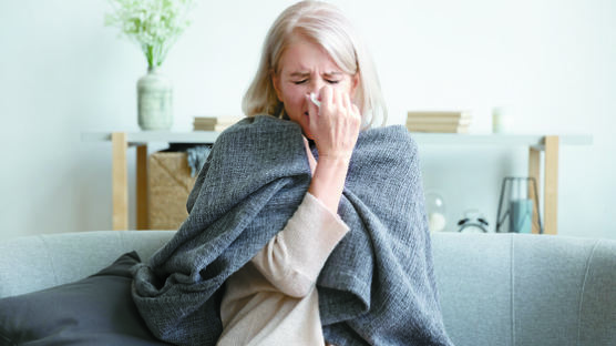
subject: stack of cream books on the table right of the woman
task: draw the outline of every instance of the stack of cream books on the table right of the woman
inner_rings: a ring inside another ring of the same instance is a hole
[[[460,111],[410,111],[407,129],[411,132],[469,133],[471,113]]]

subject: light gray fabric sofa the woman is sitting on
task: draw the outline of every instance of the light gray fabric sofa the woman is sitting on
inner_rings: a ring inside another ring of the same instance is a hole
[[[0,242],[0,297],[73,282],[171,231],[64,233]],[[521,234],[432,235],[456,345],[616,345],[616,241]]]

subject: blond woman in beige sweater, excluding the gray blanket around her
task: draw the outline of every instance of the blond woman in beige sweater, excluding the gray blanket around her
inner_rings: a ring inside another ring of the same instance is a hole
[[[267,34],[244,111],[296,122],[319,161],[306,141],[312,171],[306,197],[287,226],[228,279],[218,345],[324,345],[315,283],[348,232],[337,213],[361,123],[369,125],[361,115],[381,104],[372,65],[365,55],[356,59],[351,42],[359,40],[346,18],[316,1],[289,7]],[[318,94],[320,108],[310,94]]]

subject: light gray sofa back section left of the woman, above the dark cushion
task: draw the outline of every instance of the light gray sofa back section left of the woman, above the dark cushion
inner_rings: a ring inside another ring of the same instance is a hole
[[[0,242],[0,297],[84,278],[133,250],[142,261],[147,261],[174,233],[100,231],[23,236]]]

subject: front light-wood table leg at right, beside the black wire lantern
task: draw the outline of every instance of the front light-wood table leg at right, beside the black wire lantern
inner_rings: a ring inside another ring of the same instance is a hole
[[[545,233],[558,233],[558,136],[545,136],[544,157]]]

